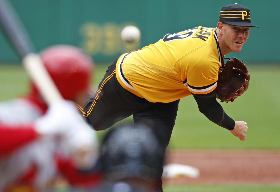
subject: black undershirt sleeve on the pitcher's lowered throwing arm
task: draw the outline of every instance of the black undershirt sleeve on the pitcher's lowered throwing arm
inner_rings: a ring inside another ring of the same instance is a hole
[[[216,100],[216,90],[207,94],[192,94],[199,111],[210,121],[228,130],[234,129],[234,120],[227,116],[223,107]]]

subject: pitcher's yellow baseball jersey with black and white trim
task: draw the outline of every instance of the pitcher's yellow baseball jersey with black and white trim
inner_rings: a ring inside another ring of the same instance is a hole
[[[216,28],[199,26],[121,55],[116,77],[123,88],[150,102],[172,102],[213,91],[222,66]]]

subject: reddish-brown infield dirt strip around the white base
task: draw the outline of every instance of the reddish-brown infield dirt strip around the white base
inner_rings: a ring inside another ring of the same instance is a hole
[[[198,178],[164,184],[280,184],[280,151],[167,151],[166,163],[196,167]]]

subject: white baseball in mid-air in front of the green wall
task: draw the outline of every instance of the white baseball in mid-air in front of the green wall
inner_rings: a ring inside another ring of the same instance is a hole
[[[134,43],[138,41],[140,39],[140,36],[140,30],[133,25],[125,26],[120,33],[120,37],[122,38],[122,40],[127,43]]]

